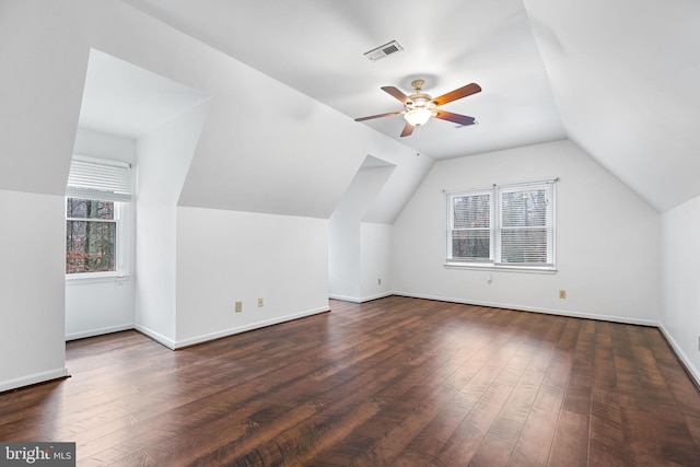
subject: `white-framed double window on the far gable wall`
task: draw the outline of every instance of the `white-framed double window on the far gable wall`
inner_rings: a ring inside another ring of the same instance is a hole
[[[555,269],[555,180],[447,194],[447,265]]]

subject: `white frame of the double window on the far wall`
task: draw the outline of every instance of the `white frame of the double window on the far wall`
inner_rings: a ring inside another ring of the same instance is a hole
[[[556,231],[557,231],[557,219],[556,219],[556,182],[558,178],[546,179],[546,180],[537,180],[537,182],[525,182],[518,184],[511,185],[492,185],[491,188],[482,188],[482,189],[468,189],[468,190],[456,190],[456,191],[444,191],[446,199],[446,235],[445,235],[445,268],[455,268],[455,269],[489,269],[489,270],[510,270],[510,271],[525,271],[525,272],[546,272],[553,273],[557,272],[557,245],[556,245]],[[518,191],[518,190],[535,190],[546,188],[548,197],[548,207],[546,209],[545,214],[545,225],[542,229],[546,230],[547,235],[547,262],[501,262],[498,255],[501,255],[502,249],[502,197],[503,194]],[[455,258],[453,255],[453,233],[454,229],[454,200],[456,198],[469,197],[469,196],[478,196],[481,194],[489,192],[490,196],[490,254],[488,260],[470,260],[470,259],[459,259]],[[498,258],[498,259],[497,259]]]

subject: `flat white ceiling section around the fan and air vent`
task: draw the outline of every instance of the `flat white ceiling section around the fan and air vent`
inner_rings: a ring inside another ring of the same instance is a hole
[[[520,0],[127,3],[352,118],[402,109],[384,85],[410,94],[422,78],[435,97],[477,82],[480,94],[444,106],[477,126],[433,120],[399,138],[401,116],[358,124],[433,159],[565,138]],[[394,39],[404,51],[376,62],[364,57]]]

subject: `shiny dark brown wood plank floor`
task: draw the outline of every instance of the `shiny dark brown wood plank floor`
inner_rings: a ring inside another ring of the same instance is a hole
[[[655,328],[331,308],[176,352],[69,342],[71,378],[0,395],[0,441],[74,441],[79,466],[700,465],[700,394]]]

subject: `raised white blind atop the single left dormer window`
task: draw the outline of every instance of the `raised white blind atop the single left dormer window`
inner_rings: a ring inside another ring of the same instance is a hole
[[[66,195],[69,198],[130,201],[129,164],[74,155]]]

